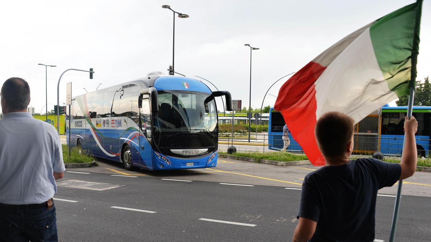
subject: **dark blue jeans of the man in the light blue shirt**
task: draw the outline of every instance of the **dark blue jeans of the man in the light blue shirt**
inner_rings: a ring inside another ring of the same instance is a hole
[[[0,242],[57,242],[56,212],[50,209],[0,205]]]

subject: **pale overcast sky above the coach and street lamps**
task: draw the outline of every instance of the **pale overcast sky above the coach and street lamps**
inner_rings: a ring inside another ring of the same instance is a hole
[[[252,100],[259,107],[266,90],[279,78],[298,71],[315,56],[356,29],[413,0],[74,0],[0,2],[0,86],[10,77],[26,79],[30,105],[45,105],[48,68],[48,110],[72,96],[165,71],[172,64],[170,5],[190,15],[175,17],[175,71],[203,77],[233,99],[249,102],[250,48],[253,50]],[[431,3],[422,8],[418,80],[431,74]],[[269,94],[278,95],[282,79]],[[205,81],[204,81],[205,82]],[[209,87],[212,88],[210,84]],[[215,90],[215,89],[214,89]],[[264,105],[274,105],[266,96]],[[218,108],[222,104],[218,100]],[[42,113],[44,113],[43,108]]]

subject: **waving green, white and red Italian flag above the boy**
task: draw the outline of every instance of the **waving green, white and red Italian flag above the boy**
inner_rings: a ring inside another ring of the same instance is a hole
[[[416,79],[422,1],[338,41],[283,84],[274,108],[315,166],[325,165],[314,127],[326,112],[361,121],[400,96]]]

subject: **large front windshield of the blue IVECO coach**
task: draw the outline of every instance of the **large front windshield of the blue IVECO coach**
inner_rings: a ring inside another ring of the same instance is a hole
[[[156,131],[214,132],[217,111],[214,96],[194,91],[159,91]]]

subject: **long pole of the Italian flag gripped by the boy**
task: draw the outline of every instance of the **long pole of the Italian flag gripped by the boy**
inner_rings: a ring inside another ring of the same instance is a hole
[[[416,1],[416,23],[415,23],[415,31],[413,36],[413,46],[412,46],[412,69],[410,71],[410,93],[409,93],[409,104],[407,107],[407,117],[412,117],[413,112],[413,101],[415,98],[415,83],[416,83],[416,64],[418,63],[418,54],[419,54],[419,30],[421,25],[421,13],[422,13],[422,0]],[[403,149],[406,144],[406,139],[403,141]],[[401,155],[401,159],[403,158]],[[395,198],[395,207],[394,207],[394,216],[392,217],[392,226],[390,229],[390,237],[389,242],[395,241],[395,232],[397,231],[397,222],[398,222],[398,212],[400,210],[400,199],[401,199],[401,189],[403,187],[403,180],[398,182],[398,190],[397,196]]]

